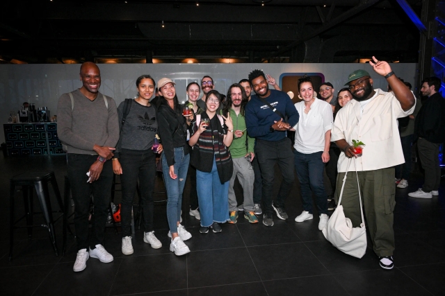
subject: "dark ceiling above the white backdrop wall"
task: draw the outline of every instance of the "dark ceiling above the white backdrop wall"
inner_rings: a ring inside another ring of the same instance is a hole
[[[0,62],[418,60],[419,31],[396,1],[264,2],[3,0]]]

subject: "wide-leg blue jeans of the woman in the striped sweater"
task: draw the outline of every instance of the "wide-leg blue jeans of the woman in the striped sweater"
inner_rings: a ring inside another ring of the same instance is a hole
[[[229,181],[221,184],[216,161],[210,173],[196,170],[197,200],[200,204],[201,226],[229,220]]]

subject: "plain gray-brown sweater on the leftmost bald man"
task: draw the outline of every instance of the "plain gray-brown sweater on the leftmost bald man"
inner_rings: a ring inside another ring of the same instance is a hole
[[[71,98],[63,94],[57,105],[57,134],[67,146],[67,153],[95,154],[92,148],[99,146],[115,147],[119,140],[118,111],[113,98],[99,92],[94,101],[76,89]]]

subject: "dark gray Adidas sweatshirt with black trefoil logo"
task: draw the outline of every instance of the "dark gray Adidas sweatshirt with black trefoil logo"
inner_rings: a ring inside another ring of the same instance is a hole
[[[120,132],[120,141],[114,156],[119,158],[122,149],[145,151],[152,149],[154,136],[158,132],[158,119],[156,118],[156,107],[150,104],[148,107],[140,105],[132,100],[131,109],[125,119],[122,128],[122,117],[124,113],[124,103],[118,107],[119,125],[122,128]]]

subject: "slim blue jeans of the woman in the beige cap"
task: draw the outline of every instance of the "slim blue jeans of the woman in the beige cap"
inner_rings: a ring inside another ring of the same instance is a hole
[[[177,223],[181,219],[182,192],[186,184],[188,163],[190,154],[184,155],[186,147],[175,148],[175,175],[174,180],[170,177],[170,167],[167,164],[164,153],[162,159],[162,173],[164,174],[165,189],[167,190],[167,220],[171,233],[178,232]]]

